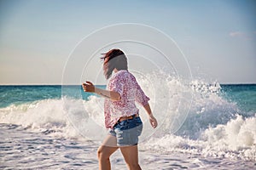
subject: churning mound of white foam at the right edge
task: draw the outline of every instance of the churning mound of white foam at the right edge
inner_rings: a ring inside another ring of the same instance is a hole
[[[207,141],[207,152],[227,151],[256,160],[256,115],[243,119],[237,116],[225,125],[209,127],[201,136]]]

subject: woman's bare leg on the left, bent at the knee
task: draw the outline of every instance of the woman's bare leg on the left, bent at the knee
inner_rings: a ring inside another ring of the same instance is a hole
[[[116,144],[116,138],[112,135],[108,135],[97,151],[100,170],[111,169],[109,157],[118,149],[119,147]]]

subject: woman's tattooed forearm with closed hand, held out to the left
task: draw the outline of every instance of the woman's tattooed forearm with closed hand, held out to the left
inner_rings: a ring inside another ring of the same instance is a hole
[[[84,92],[99,94],[105,98],[112,99],[113,101],[119,101],[121,99],[121,96],[119,93],[114,91],[104,90],[102,88],[96,88],[91,82],[83,83],[82,86],[84,88]]]

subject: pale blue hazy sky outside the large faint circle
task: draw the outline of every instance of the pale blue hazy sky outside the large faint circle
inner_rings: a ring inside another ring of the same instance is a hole
[[[0,84],[61,84],[78,43],[122,23],[171,37],[197,79],[256,83],[255,16],[254,0],[0,0]]]

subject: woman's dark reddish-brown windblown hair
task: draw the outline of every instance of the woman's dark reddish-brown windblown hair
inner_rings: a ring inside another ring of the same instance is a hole
[[[103,71],[105,77],[108,79],[113,72],[113,69],[127,70],[127,58],[120,49],[111,49],[101,58],[104,59]]]

